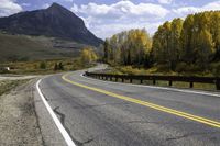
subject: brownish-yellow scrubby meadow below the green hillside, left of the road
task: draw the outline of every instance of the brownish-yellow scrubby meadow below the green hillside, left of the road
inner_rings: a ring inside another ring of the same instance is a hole
[[[62,69],[55,70],[55,65],[62,64]],[[10,71],[0,71],[0,74],[7,75],[47,75],[56,74],[62,71],[73,71],[84,68],[89,68],[95,64],[84,65],[80,58],[61,58],[61,59],[48,59],[48,60],[35,60],[35,61],[15,61],[15,63],[3,63],[0,67],[10,67]]]

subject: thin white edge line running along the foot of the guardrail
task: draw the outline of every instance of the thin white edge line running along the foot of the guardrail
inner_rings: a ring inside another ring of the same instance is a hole
[[[178,92],[185,92],[185,93],[194,93],[194,94],[202,94],[202,96],[211,96],[211,97],[220,97],[220,94],[217,93],[208,93],[208,92],[199,92],[199,91],[191,91],[191,90],[183,90],[183,89],[174,89],[174,88],[166,88],[166,87],[153,87],[153,86],[142,86],[142,85],[132,85],[132,83],[123,83],[123,82],[112,82],[112,81],[105,81],[105,80],[99,80],[95,78],[88,78],[84,76],[84,74],[80,75],[84,78],[90,79],[90,80],[98,80],[102,82],[108,82],[108,83],[118,83],[118,85],[125,85],[125,86],[133,86],[133,87],[145,87],[145,88],[152,88],[152,89],[163,89],[163,90],[169,90],[169,91],[178,91]]]

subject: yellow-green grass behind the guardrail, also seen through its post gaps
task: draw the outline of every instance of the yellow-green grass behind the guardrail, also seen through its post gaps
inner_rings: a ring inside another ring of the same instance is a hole
[[[200,77],[215,77],[216,75],[204,71],[204,72],[175,72],[166,69],[162,69],[158,67],[152,67],[150,69],[144,68],[134,68],[132,66],[114,66],[109,67],[102,72],[107,74],[113,74],[113,75],[170,75],[170,76],[200,76]],[[120,81],[120,80],[119,80]],[[125,82],[129,83],[129,80]],[[133,80],[133,83],[140,83],[140,80]],[[143,81],[143,85],[150,85],[153,86],[153,81],[145,80]],[[161,87],[168,87],[168,81],[156,81],[156,86]],[[174,81],[173,87],[176,88],[189,88],[189,82],[183,82],[183,81]],[[216,85],[211,83],[194,83],[194,89],[200,89],[200,90],[216,90]]]

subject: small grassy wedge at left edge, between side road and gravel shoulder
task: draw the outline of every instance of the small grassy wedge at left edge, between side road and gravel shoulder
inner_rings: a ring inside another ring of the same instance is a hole
[[[0,96],[3,93],[9,92],[11,89],[14,89],[15,87],[26,83],[30,79],[24,80],[1,80],[0,81]]]

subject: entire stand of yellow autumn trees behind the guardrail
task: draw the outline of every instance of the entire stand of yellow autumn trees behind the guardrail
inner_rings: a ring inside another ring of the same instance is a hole
[[[145,30],[116,34],[106,40],[103,50],[105,60],[111,64],[209,69],[211,63],[220,60],[220,11],[167,21],[152,40]]]

